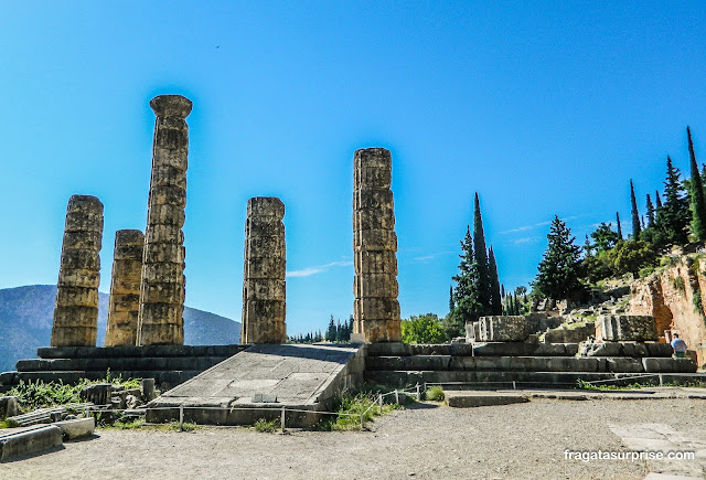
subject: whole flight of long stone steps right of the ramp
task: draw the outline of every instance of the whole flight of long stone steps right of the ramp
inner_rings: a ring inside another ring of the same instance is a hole
[[[584,349],[580,354],[578,343],[374,343],[367,349],[365,380],[393,386],[442,384],[447,390],[574,388],[579,380],[706,382],[706,374],[695,373],[693,360],[673,359],[666,343],[614,345],[621,349]]]

